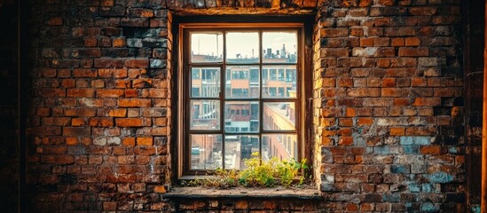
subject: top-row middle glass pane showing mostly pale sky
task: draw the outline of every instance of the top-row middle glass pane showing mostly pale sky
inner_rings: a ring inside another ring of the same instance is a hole
[[[257,32],[227,33],[226,61],[237,64],[259,62],[259,34]]]

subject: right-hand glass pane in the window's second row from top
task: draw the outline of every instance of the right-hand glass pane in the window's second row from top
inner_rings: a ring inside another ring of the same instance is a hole
[[[296,98],[296,66],[263,66],[263,98]]]

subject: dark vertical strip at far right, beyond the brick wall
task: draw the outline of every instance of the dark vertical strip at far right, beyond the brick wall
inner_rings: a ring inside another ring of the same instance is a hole
[[[483,46],[485,1],[464,1],[464,70],[467,142],[467,206],[479,208],[482,165]],[[479,209],[480,210],[480,209]]]

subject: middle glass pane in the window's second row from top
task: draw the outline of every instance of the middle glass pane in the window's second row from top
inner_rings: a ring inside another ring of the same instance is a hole
[[[259,67],[228,66],[226,67],[225,79],[226,98],[259,97]]]

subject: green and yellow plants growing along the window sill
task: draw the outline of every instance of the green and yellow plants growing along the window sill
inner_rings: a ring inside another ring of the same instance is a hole
[[[182,182],[188,186],[208,186],[216,188],[230,188],[236,186],[246,187],[271,187],[293,185],[295,177],[300,170],[307,170],[306,159],[296,162],[280,161],[277,157],[272,157],[269,161],[261,161],[258,153],[253,153],[252,158],[244,160],[246,169],[244,170],[223,170],[217,169],[215,178],[196,178],[189,182]],[[299,178],[297,185],[302,185],[304,177]]]

